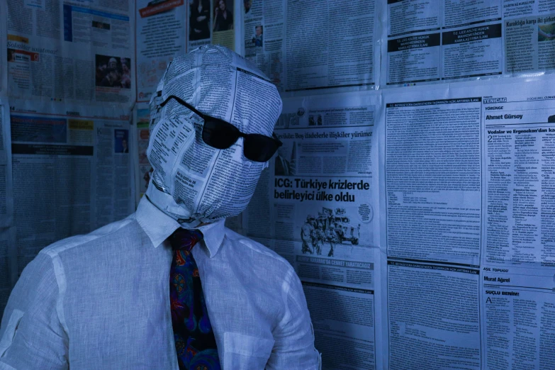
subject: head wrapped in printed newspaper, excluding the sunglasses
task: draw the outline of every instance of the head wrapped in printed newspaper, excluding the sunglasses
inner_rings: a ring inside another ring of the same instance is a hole
[[[150,201],[189,228],[238,215],[268,162],[247,159],[243,138],[224,150],[207,145],[203,119],[170,96],[242,133],[271,137],[282,108],[276,87],[240,55],[206,45],[174,58],[150,100]]]

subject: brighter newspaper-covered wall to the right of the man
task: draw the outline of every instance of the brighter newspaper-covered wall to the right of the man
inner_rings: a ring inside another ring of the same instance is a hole
[[[552,3],[245,1],[284,146],[233,227],[323,369],[555,369]]]

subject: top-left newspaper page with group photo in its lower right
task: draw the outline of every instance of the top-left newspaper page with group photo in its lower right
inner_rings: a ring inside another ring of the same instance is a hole
[[[6,4],[11,96],[133,104],[133,1]]]

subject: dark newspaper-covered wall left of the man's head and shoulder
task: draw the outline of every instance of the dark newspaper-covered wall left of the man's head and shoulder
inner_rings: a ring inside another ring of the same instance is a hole
[[[133,212],[133,5],[0,2],[0,314],[43,247]]]

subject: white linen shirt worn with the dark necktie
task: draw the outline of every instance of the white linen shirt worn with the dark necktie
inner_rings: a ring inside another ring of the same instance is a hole
[[[4,311],[0,369],[179,369],[167,242],[177,228],[143,198],[128,218],[41,250]],[[320,369],[291,265],[223,220],[199,230],[192,252],[222,368]]]

